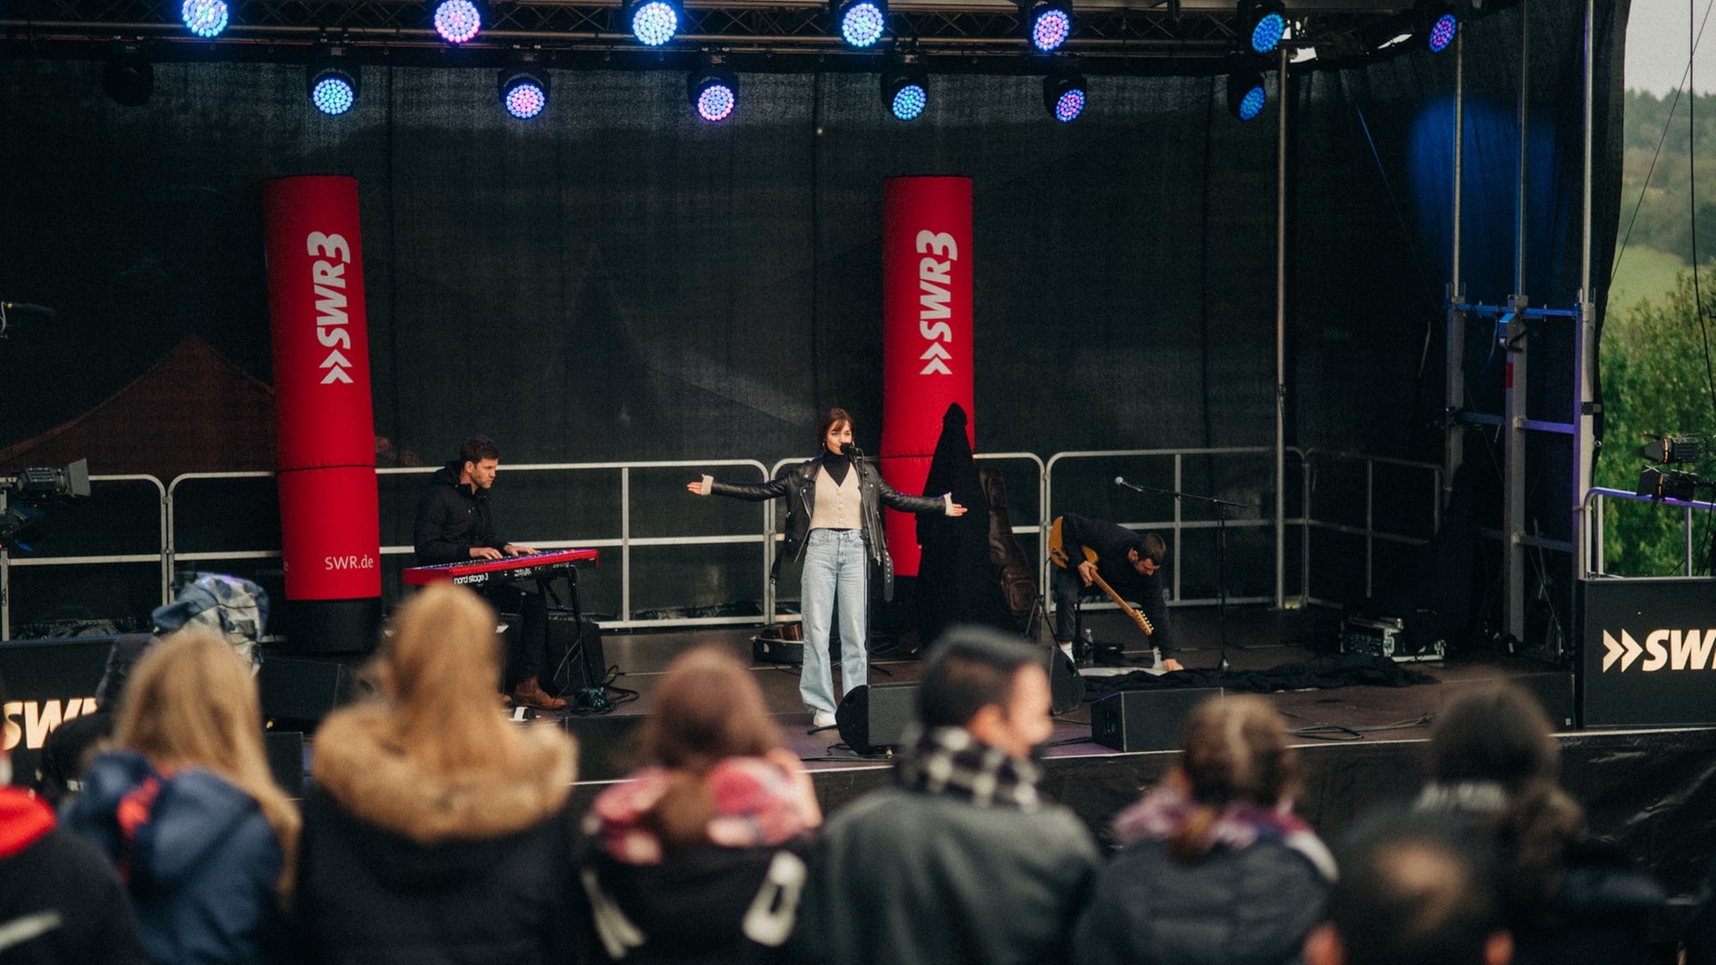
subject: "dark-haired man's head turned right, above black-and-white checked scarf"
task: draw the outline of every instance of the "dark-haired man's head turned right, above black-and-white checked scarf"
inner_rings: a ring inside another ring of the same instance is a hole
[[[1023,759],[1048,740],[1048,675],[1036,647],[982,627],[954,627],[935,644],[918,687],[925,730],[958,726]]]

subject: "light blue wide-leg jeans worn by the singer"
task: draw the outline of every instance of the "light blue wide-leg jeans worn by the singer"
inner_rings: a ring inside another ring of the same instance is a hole
[[[836,606],[841,615],[841,694],[868,682],[870,561],[863,532],[856,529],[812,529],[805,539],[805,574],[800,577],[805,620],[805,666],[798,694],[812,713],[834,713],[834,668],[829,661],[829,627]]]

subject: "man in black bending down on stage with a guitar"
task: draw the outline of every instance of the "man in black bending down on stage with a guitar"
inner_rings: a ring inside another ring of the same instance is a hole
[[[1169,546],[1155,532],[1139,536],[1131,529],[1066,513],[1059,520],[1060,544],[1066,560],[1076,567],[1054,567],[1055,642],[1071,651],[1076,623],[1076,604],[1085,587],[1097,577],[1107,580],[1115,594],[1136,601],[1153,627],[1151,646],[1162,654],[1163,670],[1186,670],[1174,659],[1174,630],[1169,625],[1169,604],[1162,592],[1162,563]],[[1091,551],[1095,561],[1091,561]]]

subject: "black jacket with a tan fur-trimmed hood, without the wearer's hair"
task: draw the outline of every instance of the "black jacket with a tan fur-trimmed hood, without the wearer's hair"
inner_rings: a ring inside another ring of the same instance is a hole
[[[511,773],[434,774],[388,711],[353,707],[316,735],[304,800],[295,962],[366,965],[578,960],[573,743],[530,726]]]

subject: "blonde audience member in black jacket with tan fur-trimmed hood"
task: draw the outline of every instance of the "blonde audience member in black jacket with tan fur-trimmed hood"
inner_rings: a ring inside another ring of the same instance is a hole
[[[297,962],[506,962],[578,955],[577,749],[494,706],[494,610],[432,586],[393,616],[383,702],[316,733],[304,800]]]

